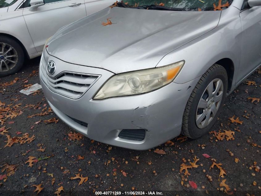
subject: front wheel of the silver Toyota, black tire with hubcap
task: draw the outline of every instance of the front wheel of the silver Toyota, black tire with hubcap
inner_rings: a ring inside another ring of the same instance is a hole
[[[214,64],[203,74],[183,113],[183,135],[198,138],[210,130],[224,103],[227,86],[227,72],[221,65]]]

